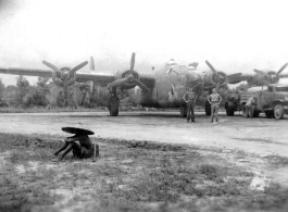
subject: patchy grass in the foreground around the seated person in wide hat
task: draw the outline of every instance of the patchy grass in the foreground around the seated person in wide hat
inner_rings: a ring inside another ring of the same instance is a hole
[[[263,170],[287,158],[185,145],[93,140],[100,157],[53,163],[57,137],[0,134],[0,211],[287,211]]]

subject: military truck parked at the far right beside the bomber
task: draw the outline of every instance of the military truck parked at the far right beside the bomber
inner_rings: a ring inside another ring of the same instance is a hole
[[[256,105],[253,113],[248,114],[246,102],[252,96],[256,99]],[[281,120],[284,114],[288,114],[288,85],[271,84],[249,88],[240,93],[240,104],[246,117],[258,117],[260,113],[265,113],[266,117]]]

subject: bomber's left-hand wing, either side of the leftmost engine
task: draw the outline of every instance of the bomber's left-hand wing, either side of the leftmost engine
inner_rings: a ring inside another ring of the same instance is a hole
[[[0,74],[52,77],[51,70],[37,70],[37,68],[0,67]],[[76,82],[78,83],[85,83],[89,80],[111,83],[115,79],[114,74],[111,73],[78,71],[76,72],[76,75],[77,75]]]

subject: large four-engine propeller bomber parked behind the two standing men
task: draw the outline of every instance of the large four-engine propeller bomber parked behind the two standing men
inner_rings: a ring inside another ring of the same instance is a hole
[[[181,116],[186,116],[186,104],[183,96],[188,88],[195,88],[197,95],[201,95],[203,89],[226,87],[230,79],[241,75],[240,73],[226,75],[224,72],[216,71],[208,61],[205,63],[211,70],[201,73],[196,71],[198,63],[186,66],[178,65],[173,60],[152,74],[140,74],[134,70],[135,53],[132,54],[130,68],[116,74],[95,72],[92,58],[89,72],[78,71],[87,63],[84,62],[71,70],[68,67],[58,68],[55,65],[43,61],[43,64],[52,71],[0,67],[0,73],[52,77],[57,85],[64,88],[64,93],[67,91],[67,87],[75,82],[89,82],[91,91],[93,90],[93,83],[107,85],[111,92],[108,105],[111,116],[118,114],[120,101],[116,95],[118,88],[126,89],[136,104],[152,108],[180,108]],[[210,114],[210,109],[206,109],[206,114]]]

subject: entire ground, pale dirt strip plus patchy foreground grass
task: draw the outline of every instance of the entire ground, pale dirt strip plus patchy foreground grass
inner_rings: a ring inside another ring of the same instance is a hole
[[[287,211],[281,121],[176,112],[0,114],[0,211]],[[100,158],[49,158],[82,123]],[[168,203],[167,203],[168,202]],[[2,203],[2,204],[1,204]],[[8,208],[5,208],[8,207]]]

